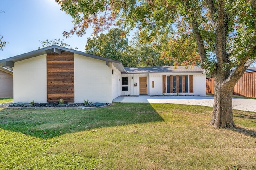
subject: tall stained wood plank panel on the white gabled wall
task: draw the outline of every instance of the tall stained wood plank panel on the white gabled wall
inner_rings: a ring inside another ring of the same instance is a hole
[[[47,54],[47,101],[74,102],[74,54]]]

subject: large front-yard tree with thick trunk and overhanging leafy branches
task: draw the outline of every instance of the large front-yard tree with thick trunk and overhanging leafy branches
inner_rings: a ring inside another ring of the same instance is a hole
[[[255,0],[56,2],[74,19],[74,28],[64,32],[66,37],[75,33],[82,36],[89,25],[94,28],[95,34],[110,26],[119,26],[124,32],[138,28],[140,36],[149,43],[156,39],[164,42],[170,34],[177,36],[177,40],[182,40],[184,35],[192,36],[186,41],[196,42],[201,65],[215,80],[214,108],[210,124],[220,128],[235,127],[232,92],[248,67],[244,66],[246,61],[256,57]],[[182,43],[186,41],[182,40]],[[178,46],[182,43],[178,43]],[[171,52],[170,50],[169,53]],[[230,74],[231,68],[234,71]]]

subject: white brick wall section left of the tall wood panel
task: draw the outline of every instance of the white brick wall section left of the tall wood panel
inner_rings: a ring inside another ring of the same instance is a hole
[[[14,102],[47,102],[46,54],[14,63]]]

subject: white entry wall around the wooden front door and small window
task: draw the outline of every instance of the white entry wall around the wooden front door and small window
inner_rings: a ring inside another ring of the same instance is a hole
[[[122,91],[122,95],[140,95],[140,77],[149,77],[148,74],[122,74],[122,77],[128,77],[129,85],[128,91]],[[122,79],[120,80],[122,83]],[[137,83],[137,86],[133,84]],[[149,78],[148,78],[149,83]],[[149,86],[148,86],[148,94],[149,94]]]

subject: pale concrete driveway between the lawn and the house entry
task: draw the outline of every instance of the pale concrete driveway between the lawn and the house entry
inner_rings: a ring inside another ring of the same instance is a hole
[[[113,101],[122,103],[173,103],[213,106],[212,96],[120,96]],[[233,98],[233,109],[256,112],[256,100]]]

